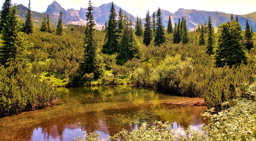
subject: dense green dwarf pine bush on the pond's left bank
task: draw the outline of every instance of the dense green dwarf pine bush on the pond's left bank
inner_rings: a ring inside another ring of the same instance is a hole
[[[0,116],[42,108],[56,99],[55,87],[39,81],[17,62],[7,68],[1,66],[0,74]]]

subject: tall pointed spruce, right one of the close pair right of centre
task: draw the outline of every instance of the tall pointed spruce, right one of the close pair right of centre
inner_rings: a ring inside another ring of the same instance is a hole
[[[161,10],[158,8],[157,11],[157,28],[156,28],[156,35],[155,35],[155,44],[160,46],[161,44],[165,43],[165,35],[164,35],[164,26],[162,23],[162,16],[161,16]]]

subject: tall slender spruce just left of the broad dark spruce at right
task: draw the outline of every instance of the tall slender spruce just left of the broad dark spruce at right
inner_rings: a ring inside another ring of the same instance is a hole
[[[214,47],[212,45],[214,44],[214,28],[212,27],[210,16],[208,19],[207,33],[208,33],[208,38],[207,38],[207,45],[206,45],[206,53],[208,55],[213,55]]]

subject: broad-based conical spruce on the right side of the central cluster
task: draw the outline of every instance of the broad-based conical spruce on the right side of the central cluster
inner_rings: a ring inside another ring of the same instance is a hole
[[[139,43],[133,30],[132,18],[129,20],[126,17],[124,21],[124,31],[122,40],[120,41],[120,56],[122,58],[131,59],[139,54]]]

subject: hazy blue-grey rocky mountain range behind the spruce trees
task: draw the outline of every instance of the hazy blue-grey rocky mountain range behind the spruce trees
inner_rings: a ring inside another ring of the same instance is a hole
[[[109,19],[110,14],[110,8],[111,3],[109,4],[103,4],[99,7],[94,7],[94,17],[95,21],[97,23],[97,27],[101,29],[101,27],[105,24],[105,22]],[[120,9],[119,6],[115,5],[116,13],[118,14],[118,11]],[[18,10],[20,12],[20,17],[25,17],[27,13],[27,8],[23,5],[18,5]],[[38,13],[33,11],[33,19],[36,25],[40,25],[40,22],[44,19],[44,16],[49,14],[51,17],[51,22],[53,22],[54,26],[57,23],[59,12],[62,11],[63,13],[63,22],[65,24],[71,24],[71,25],[85,25],[86,24],[86,8],[80,8],[80,10],[75,9],[68,9],[65,10],[61,7],[60,4],[58,4],[56,1],[54,1],[52,4],[50,4],[44,13]],[[128,13],[127,11],[124,11],[129,17],[132,17],[133,22],[136,21],[136,17],[132,14]],[[208,11],[202,11],[202,10],[188,10],[188,9],[179,9],[177,12],[172,13],[167,10],[161,10],[162,12],[162,18],[163,18],[163,24],[165,27],[167,27],[168,18],[169,15],[172,18],[173,25],[175,22],[178,22],[178,18],[182,18],[182,16],[186,16],[187,19],[187,26],[188,30],[193,31],[198,24],[201,25],[201,23],[204,23],[204,21],[208,21],[208,17],[211,16],[212,19],[212,25],[214,27],[218,27],[222,23],[225,23],[230,20],[230,14],[223,13],[223,12],[208,12]],[[145,12],[146,14],[146,12]],[[153,14],[153,13],[151,13]],[[234,15],[234,18],[236,15]],[[245,22],[246,19],[248,19],[249,24],[253,27],[253,31],[256,32],[256,12],[241,15],[239,17],[240,25],[242,26],[242,29],[245,28]],[[144,18],[144,17],[141,17]],[[144,21],[144,19],[143,19]]]

